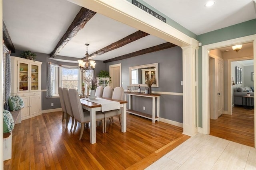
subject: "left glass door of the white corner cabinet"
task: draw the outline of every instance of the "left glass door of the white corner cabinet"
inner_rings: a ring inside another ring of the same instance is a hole
[[[19,70],[18,91],[28,91],[29,63],[18,62],[18,70]]]

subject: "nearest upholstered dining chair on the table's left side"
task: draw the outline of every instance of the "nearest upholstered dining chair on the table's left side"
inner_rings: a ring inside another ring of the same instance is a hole
[[[76,131],[77,122],[81,123],[81,132],[79,140],[82,138],[84,132],[84,124],[90,122],[90,111],[83,111],[82,104],[76,89],[69,89],[68,91],[70,104],[75,118],[74,131]],[[96,121],[102,121],[102,133],[105,132],[104,129],[104,115],[99,111],[96,111]]]

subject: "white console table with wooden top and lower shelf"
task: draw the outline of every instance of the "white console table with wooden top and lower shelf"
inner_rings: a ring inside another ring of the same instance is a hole
[[[128,110],[126,111],[127,113],[132,113],[134,115],[138,115],[141,117],[151,119],[153,123],[155,123],[155,121],[159,121],[160,94],[144,94],[144,93],[125,92],[124,93],[125,101],[127,101],[126,95],[129,96],[129,99],[128,99],[129,106],[128,106]],[[147,113],[142,113],[140,111],[131,110],[131,96],[141,96],[141,97],[146,97],[146,98],[152,98],[152,115],[147,114]],[[156,102],[156,100],[157,100],[157,102]],[[155,113],[155,109],[156,109],[156,113]]]

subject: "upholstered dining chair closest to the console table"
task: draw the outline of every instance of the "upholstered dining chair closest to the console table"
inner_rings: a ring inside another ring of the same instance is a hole
[[[123,97],[124,97],[124,89],[122,87],[114,88],[112,99],[123,100]],[[107,130],[107,119],[108,118],[109,119],[112,118],[112,122],[114,123],[113,117],[118,116],[119,117],[119,123],[122,126],[122,123],[121,123],[121,109],[104,111],[102,113],[104,114],[105,133],[106,133],[106,130]]]

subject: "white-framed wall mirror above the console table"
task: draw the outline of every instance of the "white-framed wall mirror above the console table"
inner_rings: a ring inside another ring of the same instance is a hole
[[[148,87],[146,80],[155,77],[152,87],[158,87],[158,63],[129,67],[130,86]]]

